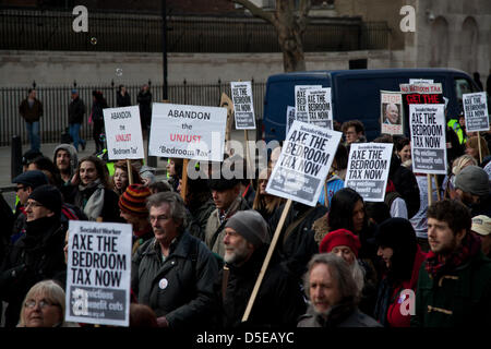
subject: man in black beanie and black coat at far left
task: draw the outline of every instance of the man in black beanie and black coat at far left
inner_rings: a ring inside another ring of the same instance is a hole
[[[27,198],[26,231],[10,248],[0,268],[0,298],[9,303],[7,327],[16,326],[22,301],[34,284],[65,270],[61,205],[60,191],[50,184],[36,188]]]

